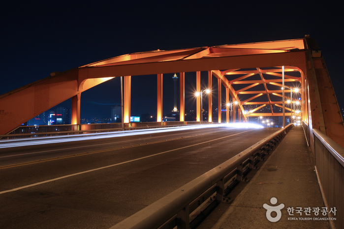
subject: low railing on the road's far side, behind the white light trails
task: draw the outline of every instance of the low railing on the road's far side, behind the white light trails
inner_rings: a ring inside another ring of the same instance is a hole
[[[168,122],[131,122],[125,123],[100,123],[100,124],[72,124],[72,125],[39,125],[39,126],[19,126],[6,135],[0,135],[0,139],[18,139],[45,136],[73,135],[80,133],[99,133],[121,130],[150,129],[175,126],[198,125],[197,121],[168,121]],[[209,124],[209,122],[203,122]]]

